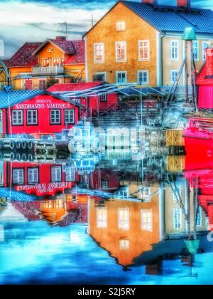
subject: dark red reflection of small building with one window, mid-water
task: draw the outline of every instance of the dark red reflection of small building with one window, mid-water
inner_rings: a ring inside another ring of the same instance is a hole
[[[90,175],[90,188],[115,191],[120,187],[119,174],[111,169],[95,169]]]

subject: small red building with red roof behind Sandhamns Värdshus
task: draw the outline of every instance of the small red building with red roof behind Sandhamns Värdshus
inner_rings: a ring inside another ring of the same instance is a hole
[[[92,113],[96,110],[107,110],[107,108],[118,102],[118,93],[109,93],[99,96],[95,94],[97,90],[102,88],[102,85],[104,85],[102,82],[55,84],[48,88],[48,91],[62,95],[63,93],[77,93],[79,91],[94,89],[94,94],[91,93],[88,97],[80,97],[80,103]]]

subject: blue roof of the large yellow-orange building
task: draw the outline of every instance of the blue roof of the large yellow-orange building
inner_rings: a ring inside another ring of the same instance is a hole
[[[180,10],[177,6],[153,6],[133,1],[121,1],[142,19],[160,31],[183,32],[186,27],[193,27],[195,33],[213,34],[213,11],[210,9]]]

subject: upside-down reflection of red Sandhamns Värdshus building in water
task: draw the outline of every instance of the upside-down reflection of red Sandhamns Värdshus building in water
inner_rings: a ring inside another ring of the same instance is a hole
[[[54,196],[71,189],[79,176],[63,164],[4,162],[4,187],[37,196]]]

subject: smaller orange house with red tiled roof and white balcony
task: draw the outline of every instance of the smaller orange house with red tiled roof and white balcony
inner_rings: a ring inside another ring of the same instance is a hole
[[[7,63],[15,89],[45,89],[55,83],[84,81],[84,41],[58,36],[25,43]]]

